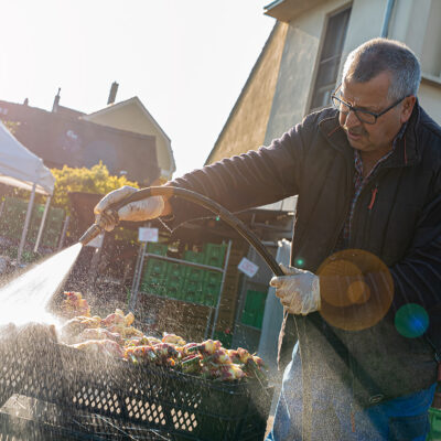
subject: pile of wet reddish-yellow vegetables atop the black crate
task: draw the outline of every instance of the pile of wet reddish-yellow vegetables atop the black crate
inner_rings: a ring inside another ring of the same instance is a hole
[[[137,365],[157,365],[219,381],[257,378],[266,380],[262,359],[238,347],[227,349],[219,341],[187,343],[181,336],[164,333],[162,338],[144,335],[132,324],[131,312],[119,309],[101,319],[90,316],[87,300],[79,292],[65,292],[62,304],[69,320],[61,330],[61,340],[71,347],[99,353]]]

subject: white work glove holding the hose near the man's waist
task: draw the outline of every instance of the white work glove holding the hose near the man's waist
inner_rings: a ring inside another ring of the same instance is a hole
[[[269,284],[276,288],[276,295],[291,314],[306,315],[320,310],[320,280],[311,271],[286,267],[280,268],[287,276],[275,276]]]

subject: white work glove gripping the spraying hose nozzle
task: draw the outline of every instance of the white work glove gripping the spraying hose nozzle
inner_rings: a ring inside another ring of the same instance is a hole
[[[123,198],[130,196],[138,191],[138,189],[125,185],[106,194],[106,196],[104,196],[94,208],[95,222],[98,225],[101,225],[107,232],[111,232],[115,228],[118,219],[107,214],[106,209],[110,205],[122,201]],[[151,196],[141,201],[131,202],[130,204],[127,204],[123,207],[119,208],[118,217],[119,220],[149,220],[161,216],[163,209],[164,200],[162,198],[162,196]]]

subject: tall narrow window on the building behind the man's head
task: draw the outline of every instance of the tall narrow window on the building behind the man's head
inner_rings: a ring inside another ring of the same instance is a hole
[[[337,80],[351,8],[327,19],[310,110],[327,106]]]

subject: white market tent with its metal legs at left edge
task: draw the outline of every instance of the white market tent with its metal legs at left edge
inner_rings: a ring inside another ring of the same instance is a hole
[[[51,170],[43,164],[42,159],[19,142],[1,121],[0,182],[7,185],[13,185],[31,191],[31,197],[29,200],[26,217],[24,219],[23,232],[18,250],[17,261],[20,263],[24,241],[26,239],[29,223],[31,219],[35,193],[41,193],[49,196],[34,248],[36,251],[43,232],[44,222],[46,219],[49,204],[51,203],[51,196],[54,192],[55,178],[51,173]]]

